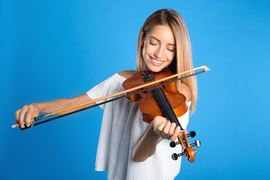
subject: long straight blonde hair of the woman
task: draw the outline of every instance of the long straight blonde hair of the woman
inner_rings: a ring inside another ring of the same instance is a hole
[[[143,24],[143,27],[140,30],[138,37],[137,45],[137,71],[142,73],[147,70],[145,61],[143,60],[143,39],[146,34],[154,27],[158,25],[167,25],[170,26],[172,32],[174,33],[174,38],[177,46],[177,53],[174,57],[174,60],[169,65],[169,68],[173,73],[181,73],[193,69],[192,64],[192,55],[190,47],[190,37],[188,35],[188,28],[186,27],[185,22],[183,21],[181,15],[174,10],[162,9],[154,12],[150,17],[148,17]],[[182,75],[183,76],[183,75]],[[179,77],[180,78],[180,77]],[[191,91],[191,106],[190,113],[192,114],[195,111],[197,103],[197,80],[195,76],[190,78],[184,78],[181,80],[186,84]],[[178,88],[180,87],[181,82],[177,83]]]

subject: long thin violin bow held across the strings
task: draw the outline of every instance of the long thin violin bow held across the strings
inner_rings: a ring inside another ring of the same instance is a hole
[[[194,72],[194,71],[197,71],[197,70],[199,70],[199,69],[202,69],[202,71],[199,71],[199,72],[197,72],[197,73],[192,73],[192,74],[190,74],[190,75],[186,75],[186,76],[183,76],[183,77],[181,77],[181,78],[177,78],[177,79],[171,80],[171,81],[169,81],[169,82],[164,82],[164,81],[166,81],[166,80],[169,80],[169,79],[172,79],[172,78],[176,78],[177,76],[180,76],[180,75],[183,75],[183,74],[186,74],[186,73],[190,73],[190,72]],[[91,108],[91,107],[96,107],[96,106],[98,106],[98,105],[102,105],[102,104],[105,104],[105,103],[107,103],[107,102],[111,102],[111,101],[113,101],[113,100],[117,100],[117,99],[119,99],[119,98],[123,98],[123,97],[126,97],[126,96],[130,96],[130,95],[135,94],[135,93],[140,93],[141,91],[145,91],[145,90],[148,90],[148,89],[152,89],[152,88],[154,88],[154,87],[159,87],[159,86],[161,86],[161,85],[163,85],[163,84],[169,84],[169,83],[171,83],[171,82],[175,82],[175,81],[181,80],[181,79],[183,79],[183,78],[188,78],[188,77],[190,77],[190,76],[197,75],[197,74],[199,74],[199,73],[204,73],[204,72],[209,71],[209,70],[210,70],[210,69],[209,69],[207,66],[199,66],[199,67],[197,67],[197,68],[195,68],[195,69],[190,69],[190,70],[184,71],[184,72],[182,72],[182,73],[177,73],[177,74],[174,74],[174,75],[170,75],[170,76],[168,76],[168,77],[166,77],[166,78],[162,78],[162,79],[160,79],[160,80],[155,80],[155,81],[153,81],[153,82],[145,83],[145,84],[142,84],[141,86],[133,87],[133,88],[131,88],[131,89],[127,89],[127,90],[125,90],[125,91],[120,91],[120,92],[118,92],[118,93],[113,93],[113,94],[111,94],[111,95],[109,95],[109,96],[104,96],[104,97],[102,97],[102,98],[96,98],[95,100],[89,100],[89,101],[87,101],[87,102],[83,102],[83,103],[80,103],[80,104],[78,104],[78,105],[73,105],[73,106],[71,106],[71,107],[66,107],[66,108],[64,108],[64,109],[60,109],[60,110],[57,110],[57,111],[53,111],[53,112],[51,112],[51,113],[49,113],[49,114],[45,114],[45,115],[42,115],[42,116],[38,116],[38,117],[32,118],[32,119],[30,120],[30,123],[31,123],[30,127],[33,127],[34,125],[39,125],[39,124],[42,124],[42,123],[46,123],[46,122],[48,122],[48,121],[50,121],[50,120],[55,120],[55,119],[57,119],[57,118],[62,118],[62,117],[64,117],[64,116],[68,116],[68,115],[70,115],[70,114],[74,114],[74,113],[76,113],[76,112],[78,112],[78,111],[83,111],[83,110],[89,109],[89,108]],[[159,83],[159,82],[164,82],[164,83],[157,84],[157,85],[155,85],[155,86],[153,86],[153,87],[149,87],[149,86],[151,86],[151,85],[153,85],[153,84],[156,84],[156,83]],[[149,88],[143,89],[144,87],[149,87]],[[142,89],[142,90],[141,90],[141,91],[138,91],[138,89]],[[131,91],[135,91],[135,92],[134,92],[134,93],[130,93]],[[125,94],[125,95],[124,95],[124,96],[120,96],[120,95],[123,95],[123,94]],[[115,96],[120,96],[120,97],[114,98]],[[114,98],[114,99],[107,100],[107,101],[105,101],[105,102],[100,102],[100,103],[98,103],[98,104],[96,104],[96,105],[91,105],[91,104],[93,104],[93,103],[95,103],[95,102],[98,102],[98,101],[101,101],[101,100],[105,100],[105,99],[108,99],[108,98]],[[91,105],[91,106],[89,106],[89,107],[84,107],[84,106],[87,106],[87,105]],[[79,109],[79,110],[76,110],[76,111],[72,111],[72,112],[70,112],[70,113],[63,114],[63,115],[60,115],[60,116],[57,116],[57,117],[54,117],[54,118],[51,118],[51,119],[48,119],[48,120],[44,120],[44,121],[42,121],[42,122],[40,122],[40,123],[35,123],[35,124],[33,124],[33,122],[35,122],[35,121],[37,121],[37,120],[40,120],[40,119],[43,119],[43,118],[47,118],[47,117],[49,117],[49,116],[53,116],[53,115],[57,115],[57,114],[62,114],[62,113],[65,112],[65,111],[70,111],[70,110],[72,110],[72,109],[77,109],[77,108],[80,108],[80,107],[84,107],[84,108]],[[25,122],[24,122],[24,125],[25,125]],[[19,127],[19,123],[17,123],[16,125],[12,125],[11,127],[12,127],[12,128]],[[25,127],[25,128],[23,128],[23,129],[21,129],[21,130],[28,129],[28,128],[30,128],[30,127]]]

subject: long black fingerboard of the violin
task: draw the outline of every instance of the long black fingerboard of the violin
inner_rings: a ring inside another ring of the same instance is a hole
[[[170,102],[167,96],[165,95],[163,89],[155,88],[152,89],[151,92],[154,99],[156,100],[156,102],[158,103],[159,107],[161,108],[165,116],[168,118],[168,120],[170,120],[171,123],[176,123],[177,126],[179,126],[181,130],[183,130],[176,114],[174,113],[174,109],[172,108],[172,105],[170,105]]]

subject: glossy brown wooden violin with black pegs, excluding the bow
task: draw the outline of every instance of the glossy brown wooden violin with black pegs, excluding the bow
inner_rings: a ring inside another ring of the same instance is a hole
[[[132,89],[133,87],[139,87],[147,82],[154,82],[155,80],[160,80],[162,78],[173,75],[170,69],[163,69],[159,73],[143,72],[141,75],[136,75],[129,78],[123,82],[124,89]],[[170,147],[175,147],[181,144],[183,152],[177,154],[172,154],[172,159],[177,160],[179,156],[186,156],[190,163],[195,161],[196,150],[192,149],[192,146],[199,147],[201,142],[196,140],[195,143],[188,142],[188,137],[195,137],[196,133],[191,131],[190,134],[186,134],[186,131],[181,127],[177,117],[182,116],[188,111],[188,106],[186,105],[186,97],[179,93],[177,90],[176,82],[172,82],[172,78],[165,80],[164,82],[156,83],[152,86],[151,90],[136,89],[135,91],[140,91],[140,93],[132,93],[127,96],[131,102],[138,102],[138,108],[143,115],[143,121],[145,123],[151,123],[155,116],[163,116],[168,118],[171,123],[176,123],[180,127],[181,132],[178,134],[177,138],[179,142],[172,141]],[[151,87],[151,86],[150,86]],[[148,87],[149,88],[149,87]],[[146,87],[147,89],[147,87]]]

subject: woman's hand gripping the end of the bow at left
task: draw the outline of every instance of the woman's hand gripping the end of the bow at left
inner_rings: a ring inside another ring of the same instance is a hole
[[[29,127],[32,118],[39,116],[39,106],[37,104],[25,105],[15,112],[15,118],[21,128]],[[24,121],[25,119],[25,121]]]

